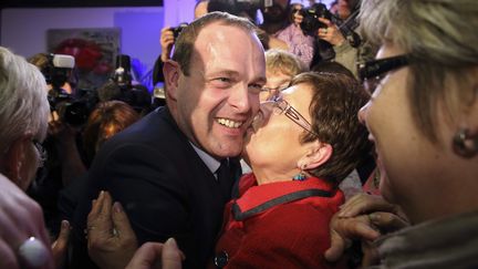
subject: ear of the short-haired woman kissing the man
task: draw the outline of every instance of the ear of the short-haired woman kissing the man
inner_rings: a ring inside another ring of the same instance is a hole
[[[328,162],[332,153],[333,148],[330,144],[319,141],[312,142],[305,155],[299,159],[298,166],[302,169],[314,169]]]

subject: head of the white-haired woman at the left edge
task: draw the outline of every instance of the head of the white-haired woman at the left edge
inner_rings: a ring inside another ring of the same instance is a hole
[[[25,190],[44,161],[50,106],[40,71],[0,48],[0,172]]]

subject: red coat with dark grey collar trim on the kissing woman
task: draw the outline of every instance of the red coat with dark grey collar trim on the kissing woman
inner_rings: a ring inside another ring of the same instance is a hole
[[[343,201],[341,190],[315,177],[257,186],[252,174],[243,176],[239,198],[226,207],[211,268],[215,259],[225,268],[337,268],[323,252]]]

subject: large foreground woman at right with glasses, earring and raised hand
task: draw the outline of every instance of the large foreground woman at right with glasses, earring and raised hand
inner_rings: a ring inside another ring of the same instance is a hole
[[[382,46],[361,69],[373,95],[360,118],[376,146],[380,190],[413,225],[376,240],[378,258],[387,268],[477,268],[478,4],[364,0],[361,12]],[[367,226],[384,231],[389,216],[373,211],[392,208],[353,198],[334,220],[328,257],[347,238],[378,237]]]

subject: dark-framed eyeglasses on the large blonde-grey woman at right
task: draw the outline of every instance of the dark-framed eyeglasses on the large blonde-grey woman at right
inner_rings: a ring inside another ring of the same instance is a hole
[[[388,72],[408,65],[409,62],[408,55],[398,55],[358,63],[358,77],[372,94]]]

